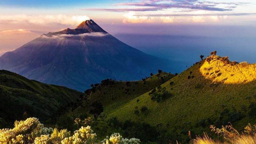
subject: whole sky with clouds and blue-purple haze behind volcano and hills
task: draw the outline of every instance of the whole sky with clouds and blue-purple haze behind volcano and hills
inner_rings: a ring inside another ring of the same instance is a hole
[[[232,55],[240,44],[245,56],[238,60],[256,62],[248,55],[255,49],[255,0],[0,0],[0,55],[88,19],[158,57],[180,60],[184,50],[212,49]],[[212,40],[204,44],[207,38]]]

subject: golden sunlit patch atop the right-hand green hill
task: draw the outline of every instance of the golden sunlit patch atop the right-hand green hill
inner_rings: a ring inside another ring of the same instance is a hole
[[[232,64],[225,57],[212,56],[205,60],[200,67],[200,73],[212,81],[212,83],[223,82],[224,84],[243,84],[256,79],[256,64],[239,63]]]

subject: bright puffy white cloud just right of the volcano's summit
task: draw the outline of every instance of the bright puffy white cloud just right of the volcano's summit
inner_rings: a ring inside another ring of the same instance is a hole
[[[136,16],[135,12],[129,12],[123,15],[123,23],[153,23],[153,17]]]

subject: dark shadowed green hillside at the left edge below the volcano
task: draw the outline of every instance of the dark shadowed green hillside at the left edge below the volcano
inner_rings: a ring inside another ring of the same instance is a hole
[[[0,128],[28,116],[46,120],[61,105],[75,102],[81,95],[63,86],[43,84],[0,70]]]

